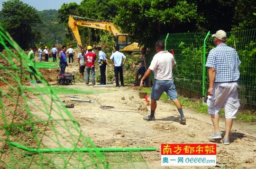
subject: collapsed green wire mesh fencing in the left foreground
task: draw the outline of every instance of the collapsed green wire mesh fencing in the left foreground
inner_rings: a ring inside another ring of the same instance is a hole
[[[140,152],[101,152],[1,25],[0,49],[0,168],[148,168]]]

